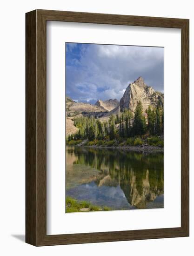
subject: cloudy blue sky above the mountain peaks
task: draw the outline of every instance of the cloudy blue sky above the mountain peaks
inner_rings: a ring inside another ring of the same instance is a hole
[[[162,47],[66,43],[66,95],[91,104],[119,101],[139,76],[163,92],[163,66]]]

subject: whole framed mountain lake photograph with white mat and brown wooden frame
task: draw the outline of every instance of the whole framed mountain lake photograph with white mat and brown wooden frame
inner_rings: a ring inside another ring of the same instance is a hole
[[[189,20],[26,13],[26,243],[189,236]]]

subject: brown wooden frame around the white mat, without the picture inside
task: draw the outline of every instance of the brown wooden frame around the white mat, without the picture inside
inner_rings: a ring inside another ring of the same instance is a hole
[[[181,227],[47,235],[48,20],[181,29]],[[189,236],[189,20],[34,10],[26,13],[26,243],[35,246]]]

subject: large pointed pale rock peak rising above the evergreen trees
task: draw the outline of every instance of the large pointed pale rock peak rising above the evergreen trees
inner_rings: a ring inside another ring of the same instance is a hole
[[[120,110],[123,111],[125,108],[128,108],[134,113],[138,101],[142,102],[143,111],[145,112],[149,105],[156,107],[159,103],[163,106],[164,94],[147,86],[140,76],[126,88],[125,93],[120,99]]]

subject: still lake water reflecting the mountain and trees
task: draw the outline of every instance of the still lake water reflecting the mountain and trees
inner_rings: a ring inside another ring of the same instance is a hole
[[[114,210],[163,208],[163,153],[66,147],[66,196]]]

